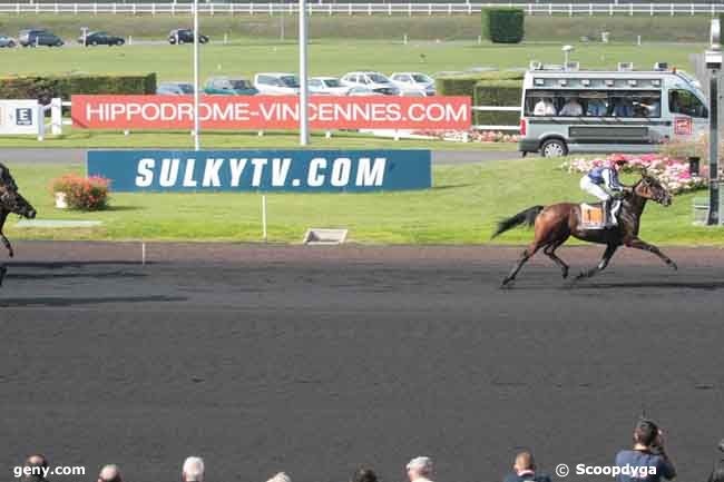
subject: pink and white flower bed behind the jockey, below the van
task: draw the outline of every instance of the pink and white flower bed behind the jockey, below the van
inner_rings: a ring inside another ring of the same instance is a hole
[[[616,159],[626,159],[624,173],[635,173],[646,169],[648,174],[656,177],[672,194],[688,193],[704,189],[707,186],[706,169],[703,167],[701,176],[694,176],[688,170],[688,163],[672,159],[665,156],[649,154],[644,156],[625,156],[620,154],[607,158],[573,159],[560,165],[560,168],[568,173],[588,173],[594,167],[604,166]]]

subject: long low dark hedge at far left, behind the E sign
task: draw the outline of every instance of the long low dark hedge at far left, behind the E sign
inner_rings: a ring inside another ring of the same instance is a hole
[[[156,94],[156,73],[0,78],[0,99],[70,99],[74,94]]]

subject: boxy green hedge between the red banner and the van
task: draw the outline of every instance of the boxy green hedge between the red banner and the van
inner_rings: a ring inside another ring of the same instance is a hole
[[[522,99],[522,80],[479,80],[474,87],[473,106],[520,106]],[[474,125],[516,126],[520,122],[520,112],[474,111]]]

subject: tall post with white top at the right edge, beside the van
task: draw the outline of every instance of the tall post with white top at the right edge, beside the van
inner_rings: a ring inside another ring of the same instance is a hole
[[[706,68],[711,70],[708,88],[708,219],[706,224],[720,224],[718,184],[718,76],[722,69],[722,46],[720,45],[720,21],[712,20],[711,46],[704,53]]]

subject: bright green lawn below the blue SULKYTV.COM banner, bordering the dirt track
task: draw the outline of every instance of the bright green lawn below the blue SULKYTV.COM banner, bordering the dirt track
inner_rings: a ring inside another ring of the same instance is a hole
[[[489,243],[495,223],[536,204],[583,199],[578,177],[556,169],[559,159],[518,159],[434,168],[434,187],[379,194],[273,194],[267,196],[271,242],[300,242],[305,229],[345,227],[353,240],[389,244]],[[9,167],[40,219],[102,220],[101,228],[28,230],[8,222],[10,238],[261,240],[261,195],[115,194],[99,213],[55,209],[50,180],[78,166]],[[633,179],[627,179],[633,180]],[[724,228],[692,226],[692,199],[664,208],[650,204],[642,237],[657,244],[724,245]],[[497,243],[519,244],[531,232],[517,229]]]

